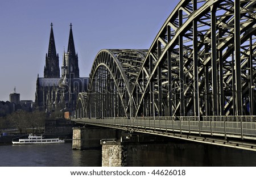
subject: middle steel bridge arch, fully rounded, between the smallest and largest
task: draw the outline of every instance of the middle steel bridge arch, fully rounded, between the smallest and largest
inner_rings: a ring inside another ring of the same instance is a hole
[[[87,117],[130,117],[131,89],[147,50],[103,49],[89,77]]]

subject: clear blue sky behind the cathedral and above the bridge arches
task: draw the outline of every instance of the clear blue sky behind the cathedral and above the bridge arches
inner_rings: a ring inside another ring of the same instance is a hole
[[[148,49],[179,0],[8,0],[0,2],[0,100],[16,86],[21,100],[35,100],[43,77],[50,24],[62,63],[73,24],[80,77],[88,77],[101,49]]]

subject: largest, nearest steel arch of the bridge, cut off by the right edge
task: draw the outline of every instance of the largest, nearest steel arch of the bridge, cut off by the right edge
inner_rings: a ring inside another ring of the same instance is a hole
[[[180,1],[141,67],[134,116],[255,115],[255,12],[255,1]]]

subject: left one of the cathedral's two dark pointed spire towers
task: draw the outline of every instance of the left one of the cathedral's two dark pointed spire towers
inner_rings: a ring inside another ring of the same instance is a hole
[[[46,54],[46,65],[44,66],[44,78],[59,78],[59,54],[56,54],[55,41],[51,23],[51,33],[49,38],[48,54]]]

